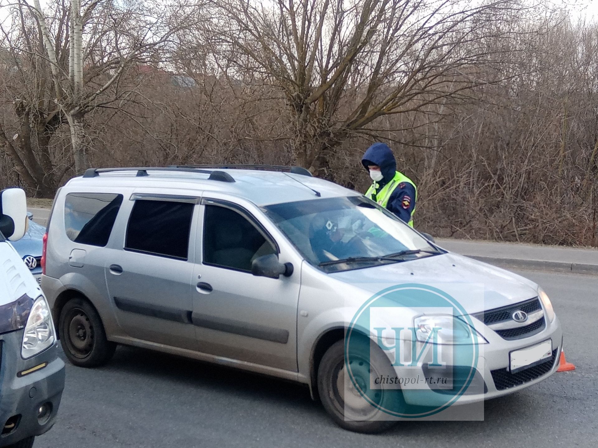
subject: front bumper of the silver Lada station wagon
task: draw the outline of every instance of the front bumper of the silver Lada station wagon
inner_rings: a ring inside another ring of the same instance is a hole
[[[438,386],[430,388],[424,383],[423,386],[417,386],[417,389],[402,388],[405,401],[408,404],[420,406],[444,406],[451,398],[457,398],[451,402],[451,405],[476,403],[512,394],[513,392],[544,381],[544,379],[547,379],[556,372],[559,367],[559,356],[563,346],[563,332],[557,317],[542,332],[531,337],[505,340],[496,334],[484,336],[489,340],[489,343],[480,345],[480,357],[478,358],[477,366],[475,366],[477,373],[471,382],[470,388],[466,389],[463,394],[457,394],[456,392],[447,393],[441,391]],[[512,351],[527,348],[545,340],[552,341],[553,358],[549,358],[545,363],[542,363],[542,366],[530,367],[519,374],[508,372],[509,354]],[[447,367],[450,369],[452,366]],[[469,370],[469,367],[466,366],[463,370]],[[417,372],[414,372],[413,368],[405,370],[401,367],[396,367],[395,370],[399,378],[401,376],[413,377],[414,375],[420,375],[421,378],[425,378],[429,376],[430,372],[430,370],[423,368],[420,368]]]

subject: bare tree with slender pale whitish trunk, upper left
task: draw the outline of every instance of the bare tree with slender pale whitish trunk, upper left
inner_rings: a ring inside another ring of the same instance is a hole
[[[54,110],[42,115],[44,119],[53,117],[50,121],[54,120],[56,127],[68,123],[77,173],[88,166],[86,114],[130,96],[135,86],[123,88],[119,82],[123,73],[140,63],[159,63],[173,36],[200,17],[199,4],[181,2],[149,8],[143,2],[121,5],[110,0],[72,0],[65,4],[60,0],[42,11],[39,0],[33,0],[33,5],[19,0],[11,8],[13,20],[9,29],[2,31],[5,36],[17,37],[8,39],[13,64],[19,67],[25,58],[30,67],[43,67],[41,94]],[[14,90],[12,94],[21,96]],[[35,107],[35,102],[26,106]],[[51,133],[51,128],[45,132],[46,136]],[[7,145],[7,136],[3,140]],[[47,167],[41,168],[45,171]]]

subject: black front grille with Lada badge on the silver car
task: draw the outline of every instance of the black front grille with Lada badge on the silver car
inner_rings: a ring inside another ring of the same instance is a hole
[[[481,320],[484,324],[492,326],[502,322],[512,322],[514,325],[515,321],[512,319],[512,315],[515,311],[524,311],[527,314],[542,309],[542,305],[538,297],[526,300],[525,302],[515,303],[515,305],[502,306],[501,308],[489,309],[488,311],[474,314],[473,316],[478,320]],[[514,340],[522,339],[523,337],[533,336],[536,333],[541,332],[546,327],[544,317],[541,319],[526,325],[524,327],[514,327],[511,329],[495,330],[496,333],[503,339]]]

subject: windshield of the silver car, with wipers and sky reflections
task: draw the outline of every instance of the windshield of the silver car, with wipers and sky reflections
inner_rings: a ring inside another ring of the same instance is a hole
[[[327,272],[444,253],[361,196],[285,202],[264,210],[308,262]]]

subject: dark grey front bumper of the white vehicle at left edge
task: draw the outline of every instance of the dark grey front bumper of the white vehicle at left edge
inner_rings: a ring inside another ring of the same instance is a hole
[[[23,330],[0,335],[0,447],[48,431],[56,422],[65,386],[65,363],[57,346],[23,360],[22,340]],[[40,421],[38,410],[44,404],[50,410]]]

